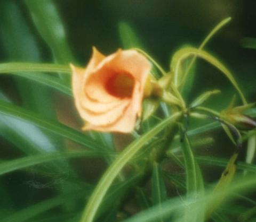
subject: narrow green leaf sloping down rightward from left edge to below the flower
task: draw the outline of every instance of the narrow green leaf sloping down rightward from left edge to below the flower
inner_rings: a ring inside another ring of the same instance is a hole
[[[46,118],[42,118],[41,116],[33,112],[29,112],[26,109],[8,104],[4,101],[0,101],[0,113],[33,123],[34,125],[42,127],[45,130],[82,144],[86,148],[102,149],[102,146],[100,144],[88,138],[81,132],[78,132],[66,125],[63,125],[55,121],[54,119],[47,120]]]

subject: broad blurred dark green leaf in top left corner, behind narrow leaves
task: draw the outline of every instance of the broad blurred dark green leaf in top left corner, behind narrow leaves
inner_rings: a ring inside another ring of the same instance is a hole
[[[0,13],[3,33],[3,47],[9,61],[38,62],[41,59],[39,47],[28,22],[23,17],[16,1],[3,3]],[[45,116],[53,116],[53,105],[47,88],[25,79],[14,78],[22,105],[37,110]],[[49,99],[50,98],[50,99]]]

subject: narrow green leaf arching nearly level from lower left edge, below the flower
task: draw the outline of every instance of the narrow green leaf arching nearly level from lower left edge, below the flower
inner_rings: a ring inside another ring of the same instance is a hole
[[[32,155],[22,157],[14,160],[3,161],[0,163],[0,175],[13,172],[14,170],[23,169],[38,164],[47,163],[63,158],[77,158],[77,157],[99,157],[104,156],[109,152],[102,152],[97,150],[84,150],[84,151],[67,151],[67,152],[50,152],[42,153],[39,155]]]

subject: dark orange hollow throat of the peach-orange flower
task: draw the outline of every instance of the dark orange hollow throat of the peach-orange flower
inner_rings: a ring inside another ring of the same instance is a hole
[[[133,87],[134,79],[125,73],[114,74],[106,82],[106,90],[115,97],[131,97]]]

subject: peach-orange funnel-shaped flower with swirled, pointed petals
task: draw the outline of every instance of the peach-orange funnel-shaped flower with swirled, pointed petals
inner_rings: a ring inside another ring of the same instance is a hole
[[[93,47],[85,69],[70,65],[76,108],[83,130],[131,132],[141,112],[143,89],[151,65],[135,50],[104,56]]]

